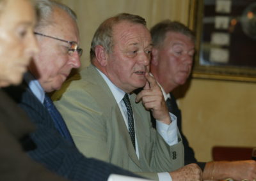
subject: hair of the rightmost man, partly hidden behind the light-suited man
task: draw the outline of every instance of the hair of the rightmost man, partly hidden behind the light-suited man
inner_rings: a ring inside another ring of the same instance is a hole
[[[195,34],[186,25],[177,21],[164,20],[150,29],[154,47],[161,47],[168,32],[184,34],[195,43]]]

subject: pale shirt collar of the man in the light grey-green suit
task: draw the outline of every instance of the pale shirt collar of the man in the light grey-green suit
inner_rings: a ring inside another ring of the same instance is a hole
[[[102,73],[99,69],[97,69],[97,71],[99,71],[102,78],[108,84],[110,91],[112,92],[114,98],[116,99],[116,103],[119,104],[122,101],[122,99],[124,98],[125,92],[122,91],[122,89],[119,89],[118,87],[116,87],[116,85],[114,83],[112,83],[111,80],[109,80],[109,78],[106,75],[104,75],[104,73]]]

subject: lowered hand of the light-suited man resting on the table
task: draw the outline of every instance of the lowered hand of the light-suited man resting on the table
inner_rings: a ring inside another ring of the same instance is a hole
[[[188,181],[199,181],[202,180],[202,170],[200,167],[195,164],[187,164],[186,166],[183,166],[179,170],[175,170],[170,172],[170,175],[172,176],[172,180],[174,181],[183,181],[183,180],[188,180]]]

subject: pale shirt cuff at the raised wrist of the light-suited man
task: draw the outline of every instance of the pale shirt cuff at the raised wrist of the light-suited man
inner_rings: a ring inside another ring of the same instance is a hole
[[[171,124],[164,124],[159,120],[156,120],[157,132],[163,137],[164,141],[169,145],[175,145],[178,143],[178,127],[177,117],[172,113],[169,113],[172,119]]]

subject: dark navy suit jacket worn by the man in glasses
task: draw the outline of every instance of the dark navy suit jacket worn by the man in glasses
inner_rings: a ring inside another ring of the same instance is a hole
[[[30,134],[37,146],[28,152],[31,158],[69,180],[107,180],[111,173],[136,177],[111,164],[84,157],[74,145],[60,136],[51,115],[24,86],[8,87],[5,90],[28,113],[37,127],[35,133]]]

